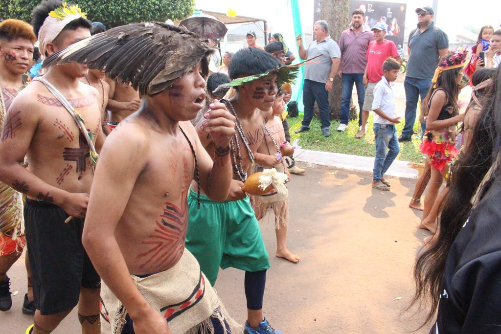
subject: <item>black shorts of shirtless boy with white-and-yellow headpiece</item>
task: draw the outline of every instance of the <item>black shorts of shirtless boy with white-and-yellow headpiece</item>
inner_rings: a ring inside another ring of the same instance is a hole
[[[77,305],[80,287],[99,288],[101,279],[82,245],[84,219],[64,221],[59,206],[27,198],[25,225],[35,305],[43,315]]]

